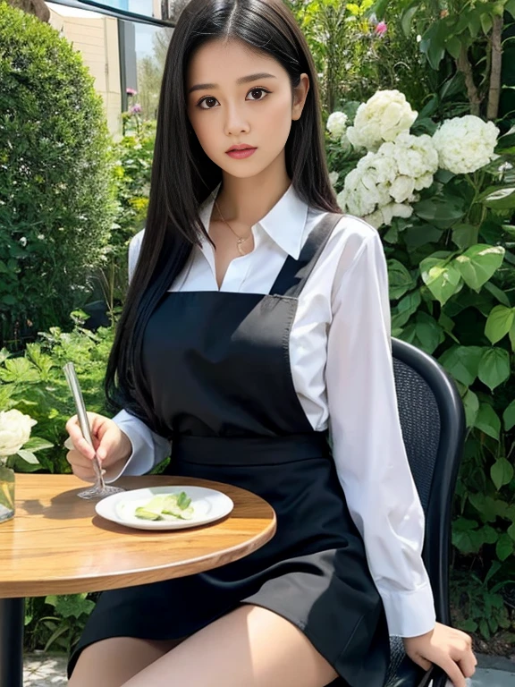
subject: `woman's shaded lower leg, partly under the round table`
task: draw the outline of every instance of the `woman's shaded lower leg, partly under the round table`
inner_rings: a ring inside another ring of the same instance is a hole
[[[182,640],[138,640],[111,637],[90,644],[81,653],[69,687],[121,687]]]

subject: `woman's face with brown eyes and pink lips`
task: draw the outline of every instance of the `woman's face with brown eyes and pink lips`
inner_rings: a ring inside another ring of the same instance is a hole
[[[186,75],[191,126],[211,160],[227,174],[259,174],[284,155],[291,120],[299,119],[309,80],[293,92],[288,73],[273,57],[241,41],[213,40],[198,48]],[[254,152],[228,154],[232,146]]]

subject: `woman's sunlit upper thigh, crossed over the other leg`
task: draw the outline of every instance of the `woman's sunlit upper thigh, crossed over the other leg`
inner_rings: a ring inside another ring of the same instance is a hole
[[[295,625],[245,605],[191,635],[125,687],[325,687],[336,677]]]

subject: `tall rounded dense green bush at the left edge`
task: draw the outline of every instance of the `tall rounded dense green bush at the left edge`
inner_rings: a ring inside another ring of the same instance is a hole
[[[114,217],[111,142],[80,54],[0,3],[0,343],[87,300]]]

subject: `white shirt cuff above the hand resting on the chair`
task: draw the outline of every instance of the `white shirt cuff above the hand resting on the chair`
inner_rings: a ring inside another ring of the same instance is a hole
[[[396,637],[418,637],[434,629],[435,600],[429,582],[416,591],[383,591],[388,632]]]

